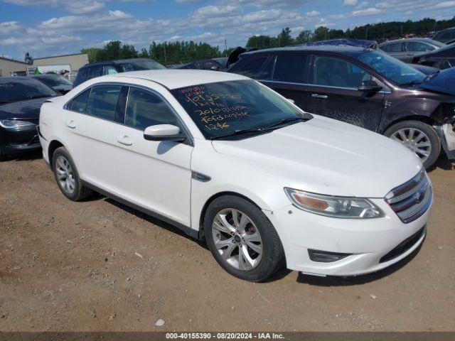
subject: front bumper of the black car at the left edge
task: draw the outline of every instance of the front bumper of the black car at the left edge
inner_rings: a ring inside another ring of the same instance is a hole
[[[0,154],[15,155],[24,151],[41,148],[36,126],[24,129],[4,129],[0,127]]]

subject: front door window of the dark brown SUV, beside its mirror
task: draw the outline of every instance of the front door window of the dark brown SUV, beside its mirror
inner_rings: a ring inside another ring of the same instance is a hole
[[[357,88],[360,82],[371,79],[368,72],[346,60],[323,56],[316,56],[314,60],[313,82],[316,85]]]

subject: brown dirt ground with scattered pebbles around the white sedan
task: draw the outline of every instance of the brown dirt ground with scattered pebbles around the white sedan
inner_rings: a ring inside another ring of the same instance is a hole
[[[437,165],[410,258],[357,278],[248,283],[164,222],[100,195],[65,199],[39,154],[2,162],[0,330],[455,330],[455,163]]]

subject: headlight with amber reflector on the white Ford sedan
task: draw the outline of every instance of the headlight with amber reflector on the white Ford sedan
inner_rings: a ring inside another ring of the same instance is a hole
[[[363,197],[337,197],[284,188],[291,202],[301,210],[334,218],[368,219],[382,216],[373,202]]]

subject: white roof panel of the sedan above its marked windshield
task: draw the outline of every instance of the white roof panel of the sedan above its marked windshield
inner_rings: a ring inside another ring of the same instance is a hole
[[[106,77],[106,76],[105,76]],[[248,77],[235,73],[210,71],[210,70],[188,70],[188,69],[166,69],[166,70],[143,70],[132,72],[120,72],[109,75],[112,78],[137,78],[157,82],[169,90],[179,87],[191,87],[214,82],[228,82],[230,80],[250,80]],[[97,77],[102,80],[103,77]],[[119,80],[120,81],[120,80]]]

